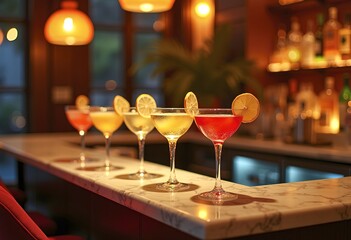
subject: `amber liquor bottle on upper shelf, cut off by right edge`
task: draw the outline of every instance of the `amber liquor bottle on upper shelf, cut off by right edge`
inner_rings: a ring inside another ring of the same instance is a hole
[[[341,58],[346,60],[351,58],[351,14],[345,15],[344,25],[339,30],[339,51]]]

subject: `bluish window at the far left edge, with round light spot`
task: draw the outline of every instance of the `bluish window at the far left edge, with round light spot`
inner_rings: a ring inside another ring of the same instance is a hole
[[[25,0],[0,1],[0,134],[25,132],[26,6]],[[0,177],[15,181],[16,162],[0,155]]]

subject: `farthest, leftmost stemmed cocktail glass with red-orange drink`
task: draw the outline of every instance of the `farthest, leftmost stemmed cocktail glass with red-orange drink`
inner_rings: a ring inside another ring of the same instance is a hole
[[[87,161],[94,161],[93,158],[87,158],[84,153],[85,134],[93,125],[89,115],[89,106],[78,108],[75,105],[69,105],[65,107],[65,113],[66,113],[68,122],[78,131],[80,136],[80,148],[81,148],[80,157],[79,159],[73,159],[73,161],[79,161],[83,165]]]

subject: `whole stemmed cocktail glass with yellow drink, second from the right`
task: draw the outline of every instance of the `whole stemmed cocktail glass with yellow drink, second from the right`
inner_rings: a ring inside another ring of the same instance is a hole
[[[163,135],[169,145],[170,176],[167,182],[157,185],[163,191],[182,191],[189,188],[188,184],[178,182],[175,174],[175,151],[178,139],[188,131],[193,118],[184,108],[154,108],[151,119],[159,133]]]

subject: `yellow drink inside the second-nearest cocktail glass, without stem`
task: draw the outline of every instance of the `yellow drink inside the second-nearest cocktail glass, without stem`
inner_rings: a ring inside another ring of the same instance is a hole
[[[190,128],[193,118],[182,112],[152,113],[156,129],[168,140],[177,140]]]

